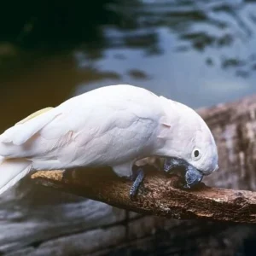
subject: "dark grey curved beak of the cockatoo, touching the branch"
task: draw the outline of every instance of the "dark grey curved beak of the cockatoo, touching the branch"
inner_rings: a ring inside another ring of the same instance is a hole
[[[183,159],[178,158],[166,158],[164,162],[164,171],[169,174],[180,173],[184,178],[184,189],[190,189],[201,183],[203,173],[200,172],[195,166],[189,165],[189,163]]]

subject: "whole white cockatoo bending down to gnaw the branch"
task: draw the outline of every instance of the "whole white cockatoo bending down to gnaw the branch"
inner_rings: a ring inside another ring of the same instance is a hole
[[[133,177],[134,195],[143,167],[137,177],[132,167],[150,156],[166,157],[166,172],[185,166],[187,187],[218,168],[212,132],[198,113],[129,84],[32,113],[0,135],[0,155],[0,195],[29,172],[82,166],[110,166],[120,177]]]

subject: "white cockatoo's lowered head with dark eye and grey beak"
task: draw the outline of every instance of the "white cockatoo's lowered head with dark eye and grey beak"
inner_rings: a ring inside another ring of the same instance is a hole
[[[164,97],[160,101],[166,112],[160,128],[166,156],[164,169],[171,172],[175,160],[176,166],[184,166],[191,187],[218,169],[218,148],[206,122],[195,110]]]

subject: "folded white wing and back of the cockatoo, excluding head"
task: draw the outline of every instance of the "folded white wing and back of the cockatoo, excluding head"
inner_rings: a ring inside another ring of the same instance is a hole
[[[35,169],[118,166],[147,155],[162,110],[141,88],[113,85],[73,97],[0,136],[0,155]]]

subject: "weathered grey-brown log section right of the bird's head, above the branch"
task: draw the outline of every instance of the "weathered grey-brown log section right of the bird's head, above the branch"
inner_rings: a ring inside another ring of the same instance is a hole
[[[198,110],[216,139],[219,170],[205,181],[229,189],[256,190],[256,96]]]

